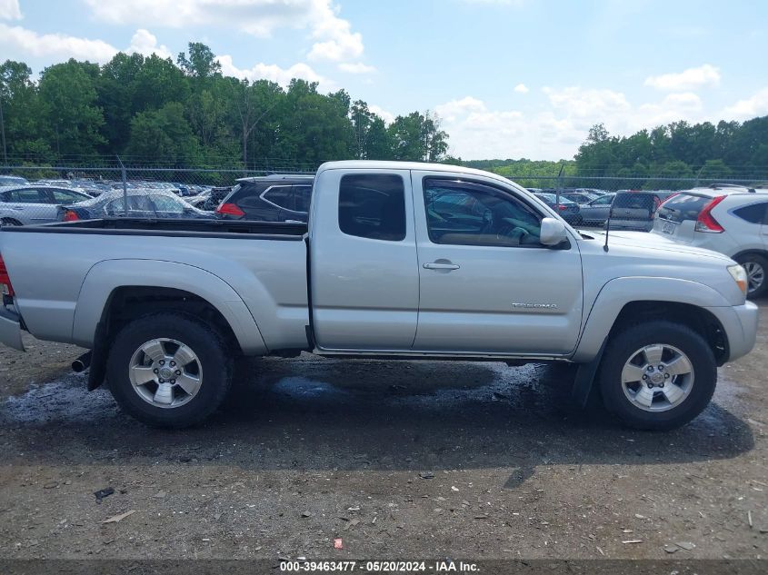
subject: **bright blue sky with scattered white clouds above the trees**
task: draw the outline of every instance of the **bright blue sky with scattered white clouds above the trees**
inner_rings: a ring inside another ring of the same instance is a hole
[[[224,74],[437,114],[464,160],[570,159],[593,124],[768,114],[761,0],[0,0],[0,61],[210,46]]]

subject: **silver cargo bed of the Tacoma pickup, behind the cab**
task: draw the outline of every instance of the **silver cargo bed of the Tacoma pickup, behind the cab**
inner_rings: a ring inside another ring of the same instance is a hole
[[[160,287],[200,294],[224,316],[231,313],[233,329],[257,341],[254,352],[307,345],[306,229],[109,218],[4,227],[0,253],[18,312],[39,339],[90,348],[101,312],[89,312],[104,308],[102,299],[119,285],[129,292]]]

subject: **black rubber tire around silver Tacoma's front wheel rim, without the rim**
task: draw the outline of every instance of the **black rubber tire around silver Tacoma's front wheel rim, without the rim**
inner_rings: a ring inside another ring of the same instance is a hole
[[[654,343],[677,348],[693,366],[690,392],[682,402],[667,411],[644,411],[631,402],[623,391],[625,362],[637,350]],[[697,332],[684,325],[654,320],[634,324],[609,340],[598,377],[603,403],[608,411],[629,427],[663,431],[681,427],[693,420],[709,404],[717,383],[717,364],[709,345]]]

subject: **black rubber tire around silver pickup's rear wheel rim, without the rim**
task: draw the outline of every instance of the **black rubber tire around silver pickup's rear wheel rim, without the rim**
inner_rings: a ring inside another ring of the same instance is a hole
[[[134,353],[146,342],[167,338],[192,349],[203,372],[199,391],[183,405],[157,407],[136,392],[129,376]],[[152,427],[180,429],[211,415],[232,384],[232,359],[224,338],[211,326],[185,313],[154,313],[128,323],[118,332],[106,366],[107,384],[120,408]]]

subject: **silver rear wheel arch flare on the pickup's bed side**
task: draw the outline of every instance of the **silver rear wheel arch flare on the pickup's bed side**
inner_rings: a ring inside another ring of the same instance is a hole
[[[153,260],[106,260],[85,276],[75,303],[72,341],[94,347],[95,328],[109,297],[120,287],[157,287],[183,290],[209,302],[229,323],[246,355],[264,355],[264,338],[243,299],[219,276],[185,263]]]

